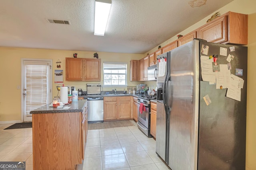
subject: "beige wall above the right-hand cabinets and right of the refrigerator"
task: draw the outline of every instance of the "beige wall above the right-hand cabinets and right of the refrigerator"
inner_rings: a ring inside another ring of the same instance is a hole
[[[216,12],[224,14],[228,11],[248,14],[248,86],[247,86],[247,124],[246,124],[246,170],[256,170],[256,112],[255,112],[255,96],[256,96],[256,78],[254,67],[256,65],[256,0],[234,0],[230,4],[220,8]],[[184,31],[178,33],[186,35],[198,27],[204,25],[206,21],[212,16],[204,18],[196,24],[188,27]],[[177,35],[178,35],[177,34]],[[160,44],[162,47],[176,40],[174,36],[167,41]],[[158,49],[158,46],[146,52],[151,54]]]

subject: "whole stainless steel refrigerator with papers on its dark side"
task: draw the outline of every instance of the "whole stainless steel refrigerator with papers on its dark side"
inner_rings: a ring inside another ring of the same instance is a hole
[[[159,55],[157,66],[156,153],[172,170],[245,169],[247,47],[194,40]],[[242,79],[240,94],[230,97],[233,81],[219,86],[230,79],[218,66]]]

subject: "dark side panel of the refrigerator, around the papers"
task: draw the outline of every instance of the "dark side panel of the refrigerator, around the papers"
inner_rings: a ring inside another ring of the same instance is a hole
[[[218,64],[229,63],[231,74],[236,68],[244,70],[244,87],[241,89],[241,102],[225,97],[227,89],[216,89],[216,85],[200,82],[200,112],[198,141],[198,170],[244,170],[246,147],[246,86],[247,86],[247,47],[203,43],[208,45],[209,54],[218,54]],[[220,47],[227,49],[227,56],[220,55]],[[229,47],[235,47],[230,51]],[[210,97],[211,104],[206,106],[203,97]]]

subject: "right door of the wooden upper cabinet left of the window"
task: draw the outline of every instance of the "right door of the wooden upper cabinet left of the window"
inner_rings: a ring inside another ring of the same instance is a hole
[[[84,80],[100,80],[100,59],[85,59]]]

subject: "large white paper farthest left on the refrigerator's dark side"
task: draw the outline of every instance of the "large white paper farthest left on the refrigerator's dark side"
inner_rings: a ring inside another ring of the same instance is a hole
[[[205,82],[216,82],[216,73],[212,72],[213,58],[201,55],[201,75]]]

